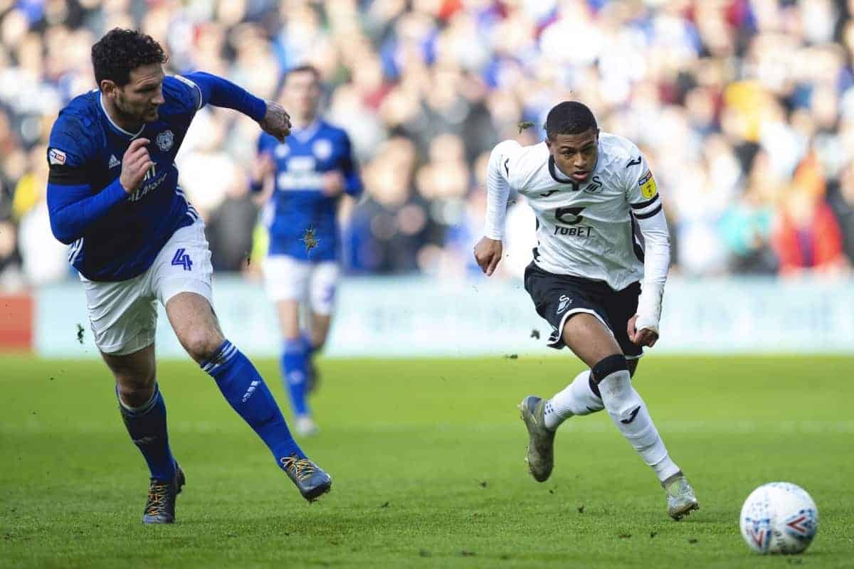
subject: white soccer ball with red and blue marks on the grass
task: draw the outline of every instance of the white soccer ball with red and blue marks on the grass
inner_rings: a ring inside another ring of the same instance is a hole
[[[754,551],[801,553],[816,537],[818,508],[800,486],[771,482],[747,496],[740,525],[741,536]]]

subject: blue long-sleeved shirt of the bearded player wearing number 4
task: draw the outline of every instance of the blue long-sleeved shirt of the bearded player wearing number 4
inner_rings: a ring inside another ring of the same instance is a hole
[[[266,103],[209,73],[163,79],[166,102],[155,122],[137,132],[115,125],[99,90],[75,97],[63,108],[48,143],[48,209],[56,239],[71,245],[68,259],[92,281],[125,281],[147,270],[173,233],[198,213],[178,187],[175,155],[196,111],[206,104],[234,108],[255,120]],[[128,195],[119,178],[132,140],[151,142],[155,163]]]

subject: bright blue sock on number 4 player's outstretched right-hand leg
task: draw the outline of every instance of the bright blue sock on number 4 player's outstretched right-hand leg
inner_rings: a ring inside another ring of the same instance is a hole
[[[279,467],[282,467],[281,459],[284,456],[305,458],[290,435],[288,424],[269,387],[249,359],[237,350],[237,346],[225,340],[213,357],[202,362],[201,366],[216,380],[219,391],[237,411],[237,415],[242,416],[243,421],[249,423],[249,427],[269,447]]]

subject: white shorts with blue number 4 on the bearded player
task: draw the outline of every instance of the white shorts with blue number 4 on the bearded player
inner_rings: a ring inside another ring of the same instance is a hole
[[[175,231],[141,275],[119,282],[95,282],[81,275],[98,350],[124,356],[154,344],[157,301],[165,306],[178,293],[197,293],[212,302],[212,276],[201,219]]]

